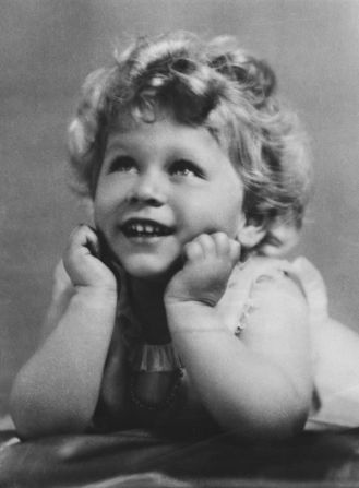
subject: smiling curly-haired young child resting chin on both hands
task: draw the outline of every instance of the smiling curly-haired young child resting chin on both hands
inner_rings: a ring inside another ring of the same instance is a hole
[[[359,384],[358,337],[327,319],[308,261],[278,259],[311,170],[275,88],[232,38],[187,33],[89,75],[70,155],[94,225],[72,233],[47,336],[15,380],[22,438],[214,422],[280,439],[310,413],[333,421],[326,398]]]

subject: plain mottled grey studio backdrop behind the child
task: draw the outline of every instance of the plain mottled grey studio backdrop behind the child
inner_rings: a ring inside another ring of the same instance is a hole
[[[274,67],[316,174],[296,253],[321,270],[332,314],[359,331],[359,0],[0,0],[0,413],[85,219],[64,163],[84,76],[117,38],[177,28],[235,34]]]

